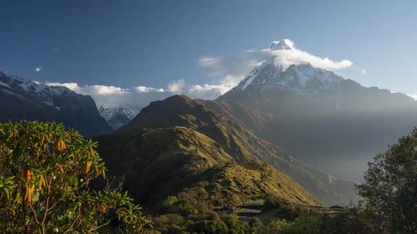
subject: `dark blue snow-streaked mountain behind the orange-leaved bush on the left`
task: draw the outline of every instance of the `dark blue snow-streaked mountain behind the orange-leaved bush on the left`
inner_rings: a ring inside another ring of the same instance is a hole
[[[99,115],[91,96],[66,87],[46,86],[0,72],[0,122],[38,120],[64,122],[90,138],[112,129]]]

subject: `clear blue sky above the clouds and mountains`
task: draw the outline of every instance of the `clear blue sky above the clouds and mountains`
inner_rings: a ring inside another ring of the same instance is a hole
[[[1,1],[0,70],[121,92],[176,81],[175,91],[218,85],[245,51],[289,38],[312,55],[350,60],[335,72],[364,86],[414,93],[416,9],[416,1]],[[202,66],[204,57],[222,58],[223,69]]]

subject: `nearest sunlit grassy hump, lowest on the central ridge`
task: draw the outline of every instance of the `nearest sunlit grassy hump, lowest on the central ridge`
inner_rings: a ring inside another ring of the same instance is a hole
[[[265,195],[289,203],[322,205],[293,179],[267,164],[229,164],[215,172],[204,188],[223,205],[244,205],[263,200]]]

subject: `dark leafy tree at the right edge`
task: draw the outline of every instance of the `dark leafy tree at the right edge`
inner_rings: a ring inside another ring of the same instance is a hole
[[[360,205],[389,233],[417,230],[417,129],[368,163]]]

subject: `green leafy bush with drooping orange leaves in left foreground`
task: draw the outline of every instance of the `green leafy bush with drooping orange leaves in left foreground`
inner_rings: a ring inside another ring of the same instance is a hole
[[[54,122],[0,124],[1,232],[97,233],[112,218],[141,231],[141,207],[119,184],[88,186],[105,175],[96,146]]]

